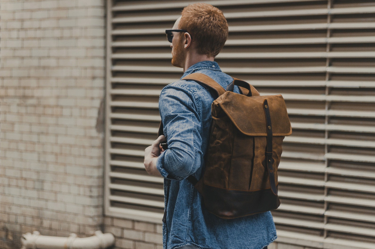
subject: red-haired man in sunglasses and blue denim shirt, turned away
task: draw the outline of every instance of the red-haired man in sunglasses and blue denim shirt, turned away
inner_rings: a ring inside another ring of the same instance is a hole
[[[185,7],[172,30],[172,65],[183,68],[181,79],[202,73],[223,88],[233,81],[214,62],[228,37],[223,13],[210,4]],[[237,86],[235,92],[239,93]],[[221,219],[201,205],[202,197],[186,179],[202,177],[204,154],[211,126],[211,104],[217,96],[193,80],[179,80],[164,87],[159,111],[166,136],[145,149],[145,169],[164,177],[166,219],[165,249],[261,249],[276,239],[270,212],[235,219]],[[163,150],[162,142],[168,142]]]

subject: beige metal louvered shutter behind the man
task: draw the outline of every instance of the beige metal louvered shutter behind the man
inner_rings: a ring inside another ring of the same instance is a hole
[[[160,90],[179,79],[165,29],[195,1],[108,1],[106,215],[161,222],[163,179],[144,148]],[[216,61],[281,93],[293,134],[279,166],[279,242],[375,248],[375,3],[217,0],[229,39]]]

